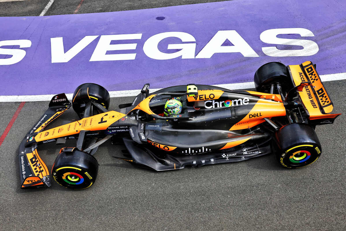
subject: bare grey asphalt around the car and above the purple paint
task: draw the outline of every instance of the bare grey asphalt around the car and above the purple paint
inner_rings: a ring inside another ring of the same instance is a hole
[[[24,12],[19,6],[23,2],[40,9]],[[23,2],[6,3],[18,6],[7,13],[35,16],[48,1]],[[80,1],[70,1],[68,6],[67,1],[60,2],[53,3],[47,14],[73,13]],[[111,1],[98,2],[111,5]],[[142,8],[150,8],[188,1],[142,2]],[[140,9],[137,5],[99,8]],[[83,6],[81,13],[100,12],[97,7],[88,11]],[[0,15],[5,16],[1,10]],[[308,167],[285,169],[273,155],[267,155],[233,164],[153,172],[112,158],[121,156],[124,148],[109,141],[95,154],[100,164],[96,183],[82,191],[54,182],[50,188],[19,189],[18,145],[48,105],[26,102],[0,146],[0,230],[345,230],[346,80],[324,84],[334,103],[333,112],[343,114],[334,124],[316,128],[323,153]],[[132,100],[112,98],[110,109]],[[0,135],[19,105],[0,102]],[[59,121],[71,118],[76,118],[72,108]],[[61,147],[39,146],[48,169]]]

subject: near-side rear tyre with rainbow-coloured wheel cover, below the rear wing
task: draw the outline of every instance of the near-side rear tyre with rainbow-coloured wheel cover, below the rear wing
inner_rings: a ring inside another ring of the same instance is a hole
[[[286,168],[301,168],[315,162],[321,155],[321,144],[315,130],[308,124],[288,124],[275,133],[279,163]]]

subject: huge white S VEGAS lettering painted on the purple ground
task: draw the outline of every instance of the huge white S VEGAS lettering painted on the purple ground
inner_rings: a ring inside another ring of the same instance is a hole
[[[262,42],[271,44],[271,46],[262,47],[262,52],[267,56],[272,57],[287,57],[287,56],[311,56],[318,52],[318,45],[308,39],[291,39],[277,38],[277,35],[299,34],[301,37],[315,36],[310,30],[304,28],[278,28],[268,29],[260,34]],[[128,40],[138,41],[138,44],[143,44],[144,54],[152,59],[165,60],[180,57],[181,59],[193,58],[211,58],[216,53],[241,53],[244,57],[260,57],[255,50],[245,41],[245,39],[236,30],[219,30],[208,41],[203,44],[203,48],[196,55],[196,45],[199,39],[196,39],[191,34],[186,32],[164,32],[149,37],[144,43],[139,41],[143,34],[117,34],[117,35],[86,35],[79,41],[70,41],[68,37],[50,38],[50,41],[43,41],[43,44],[51,46],[51,62],[52,63],[67,63],[84,48],[99,38],[95,47],[88,46],[90,52],[89,61],[117,61],[117,60],[133,60],[136,58],[136,53],[131,50],[138,49],[137,43],[128,43]],[[83,36],[83,35],[82,35]],[[178,38],[181,43],[168,44],[167,49],[176,50],[173,53],[162,52],[158,48],[158,44],[166,38]],[[223,46],[222,44],[229,40],[232,46]],[[112,44],[118,41],[119,44]],[[33,41],[37,43],[37,41]],[[64,44],[74,44],[70,49]],[[20,62],[26,56],[26,50],[37,49],[31,47],[31,40],[3,40],[0,41],[0,55],[12,55],[10,58],[0,58],[0,65],[12,65]],[[300,46],[299,49],[277,49],[275,45],[289,45],[289,47]],[[1,48],[2,46],[14,46],[13,48]],[[18,49],[29,48],[29,49]],[[49,50],[49,48],[48,48]],[[118,51],[118,54],[109,54],[110,51]],[[124,51],[124,52],[122,52]],[[137,50],[138,51],[138,50]],[[108,53],[108,54],[107,54]]]

